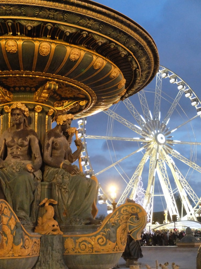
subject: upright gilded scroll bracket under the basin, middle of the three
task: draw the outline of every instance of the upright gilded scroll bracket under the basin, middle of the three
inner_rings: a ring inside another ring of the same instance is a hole
[[[41,86],[33,95],[35,102],[46,102],[52,91],[56,91],[58,84],[54,81],[48,81],[45,85]]]

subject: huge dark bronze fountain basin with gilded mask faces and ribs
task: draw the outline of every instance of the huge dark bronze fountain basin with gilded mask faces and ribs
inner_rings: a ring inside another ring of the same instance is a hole
[[[153,39],[117,11],[89,0],[0,4],[1,103],[30,101],[79,118],[136,93],[157,72]]]

